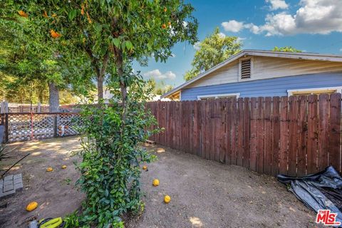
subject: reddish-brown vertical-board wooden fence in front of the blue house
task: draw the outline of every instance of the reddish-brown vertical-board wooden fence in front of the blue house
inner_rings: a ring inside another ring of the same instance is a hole
[[[160,145],[267,175],[341,172],[341,93],[147,103]]]

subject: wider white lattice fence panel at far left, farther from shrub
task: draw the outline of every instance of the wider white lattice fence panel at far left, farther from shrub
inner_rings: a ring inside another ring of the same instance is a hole
[[[54,136],[54,115],[10,114],[8,119],[9,142],[40,140]]]

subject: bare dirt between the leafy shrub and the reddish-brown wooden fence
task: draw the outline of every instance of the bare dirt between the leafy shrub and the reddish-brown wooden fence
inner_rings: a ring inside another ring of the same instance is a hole
[[[145,212],[128,227],[316,227],[316,214],[274,177],[158,145],[150,149],[158,160],[142,172]]]

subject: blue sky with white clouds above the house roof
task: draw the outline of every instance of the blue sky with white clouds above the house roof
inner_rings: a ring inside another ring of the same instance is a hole
[[[302,51],[342,55],[342,0],[185,0],[195,7],[202,41],[219,27],[238,36],[242,49],[271,50],[292,46]],[[184,83],[195,55],[194,46],[177,43],[166,63],[152,58],[147,67],[135,63],[145,79],[171,86]]]

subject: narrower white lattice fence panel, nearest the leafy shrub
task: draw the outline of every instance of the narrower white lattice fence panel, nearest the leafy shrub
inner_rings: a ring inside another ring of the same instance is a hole
[[[78,135],[82,126],[80,114],[57,114],[58,136]]]

